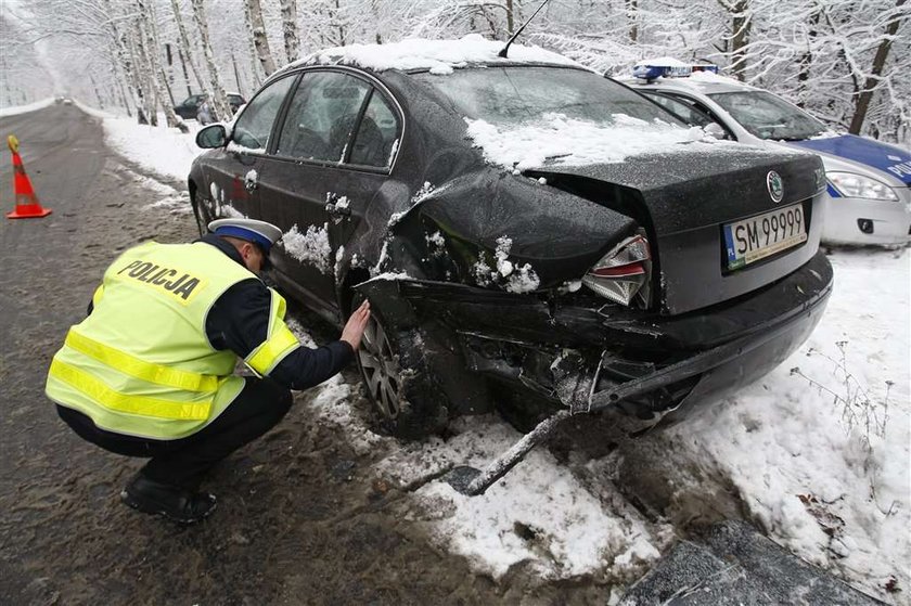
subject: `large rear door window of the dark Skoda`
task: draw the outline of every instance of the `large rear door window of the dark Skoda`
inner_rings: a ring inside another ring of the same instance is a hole
[[[371,89],[348,74],[305,75],[288,105],[277,153],[292,158],[343,162]]]

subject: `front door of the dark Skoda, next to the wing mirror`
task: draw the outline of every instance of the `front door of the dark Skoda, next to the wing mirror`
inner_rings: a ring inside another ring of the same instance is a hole
[[[259,216],[261,162],[295,79],[291,75],[260,90],[238,117],[228,144],[207,163],[206,186],[215,217]]]

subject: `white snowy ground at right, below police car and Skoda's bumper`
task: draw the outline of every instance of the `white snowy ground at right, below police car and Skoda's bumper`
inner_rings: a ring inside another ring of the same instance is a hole
[[[772,539],[888,599],[891,576],[911,589],[911,252],[831,260],[835,291],[807,344],[662,434],[654,455],[720,470]]]

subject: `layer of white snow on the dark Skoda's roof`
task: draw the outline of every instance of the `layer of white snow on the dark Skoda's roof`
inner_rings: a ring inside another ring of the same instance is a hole
[[[575,61],[539,47],[512,44],[509,59],[497,56],[505,42],[491,41],[478,34],[459,40],[424,40],[411,38],[388,44],[349,44],[317,51],[285,66],[282,72],[300,65],[352,65],[383,72],[386,69],[429,69],[434,74],[451,74],[458,67],[490,63],[556,63],[581,67]]]

